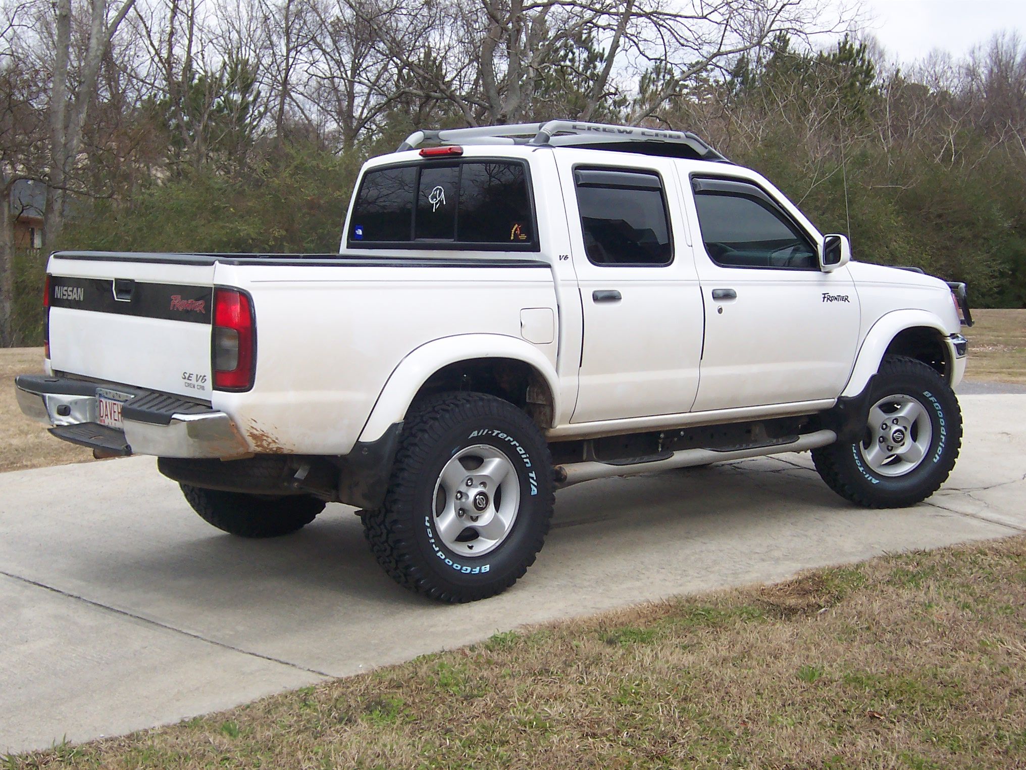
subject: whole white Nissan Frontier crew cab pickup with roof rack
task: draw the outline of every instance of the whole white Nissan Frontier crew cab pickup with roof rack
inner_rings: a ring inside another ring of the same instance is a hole
[[[61,252],[22,409],[145,454],[207,522],[361,510],[428,596],[512,585],[554,490],[812,450],[873,507],[954,465],[963,284],[850,262],[689,132],[418,131],[369,160],[339,254]]]

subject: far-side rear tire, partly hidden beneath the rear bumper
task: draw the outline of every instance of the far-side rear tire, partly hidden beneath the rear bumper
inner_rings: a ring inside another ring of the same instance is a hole
[[[222,492],[179,485],[200,517],[219,530],[239,537],[278,537],[310,524],[324,510],[324,502],[305,495],[271,497]]]

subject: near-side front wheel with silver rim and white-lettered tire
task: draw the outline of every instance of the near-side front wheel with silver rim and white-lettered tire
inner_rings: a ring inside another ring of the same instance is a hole
[[[870,508],[899,508],[933,495],[961,447],[961,411],[954,392],[926,364],[887,356],[873,379],[860,440],[813,451],[820,476],[834,492]]]

